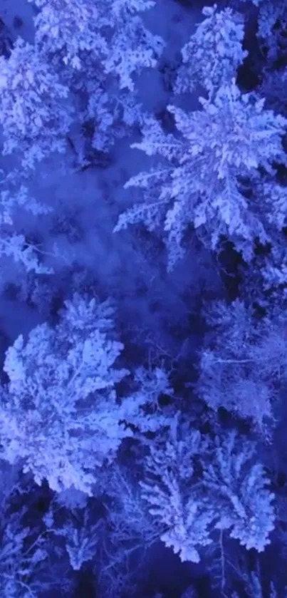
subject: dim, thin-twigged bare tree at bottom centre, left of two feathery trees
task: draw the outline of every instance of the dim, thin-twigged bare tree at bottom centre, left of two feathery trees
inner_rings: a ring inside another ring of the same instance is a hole
[[[105,518],[102,520],[95,571],[101,596],[120,596],[145,566],[147,550],[160,536],[140,495],[137,476],[130,468],[113,465],[107,472]]]

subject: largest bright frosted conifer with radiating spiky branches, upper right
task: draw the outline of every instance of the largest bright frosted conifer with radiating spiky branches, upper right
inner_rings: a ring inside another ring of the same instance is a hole
[[[256,205],[261,198],[248,200],[243,179],[259,177],[259,167],[272,176],[273,162],[286,161],[281,138],[287,120],[264,110],[264,100],[241,95],[234,81],[221,86],[214,100],[199,100],[202,110],[192,113],[168,107],[177,135],[165,135],[156,120],[147,119],[142,141],[132,148],[161,160],[127,181],[126,188],[144,190],[145,202],[122,213],[115,227],[143,222],[149,230],[163,228],[169,267],[184,254],[188,227],[212,249],[228,237],[249,261],[255,240],[264,244],[268,235]]]

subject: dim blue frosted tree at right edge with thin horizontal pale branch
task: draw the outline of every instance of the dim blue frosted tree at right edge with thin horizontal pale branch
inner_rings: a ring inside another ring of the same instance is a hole
[[[207,313],[213,327],[202,352],[197,391],[212,407],[224,407],[270,432],[278,382],[286,378],[284,321],[254,322],[251,309],[237,299],[218,302]],[[286,326],[286,324],[285,324]]]

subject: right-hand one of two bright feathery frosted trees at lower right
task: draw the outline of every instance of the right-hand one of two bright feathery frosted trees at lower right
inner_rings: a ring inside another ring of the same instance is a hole
[[[269,480],[260,463],[254,463],[256,443],[236,435],[217,439],[212,463],[204,470],[204,485],[216,510],[216,528],[231,530],[247,550],[262,552],[270,544],[274,528],[275,496],[268,490]]]

